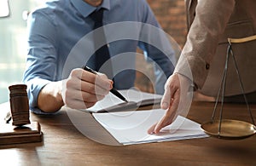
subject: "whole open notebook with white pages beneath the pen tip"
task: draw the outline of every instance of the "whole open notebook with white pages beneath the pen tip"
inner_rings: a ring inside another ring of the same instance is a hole
[[[162,95],[160,94],[149,94],[135,89],[119,90],[119,93],[124,95],[129,102],[126,103],[114,94],[109,93],[103,100],[98,101],[95,106],[82,111],[118,112],[120,110],[127,110],[131,108],[136,109],[138,106],[157,104],[160,103],[162,98]]]

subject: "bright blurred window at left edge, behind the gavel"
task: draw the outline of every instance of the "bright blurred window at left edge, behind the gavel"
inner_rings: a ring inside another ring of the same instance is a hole
[[[22,81],[26,64],[26,11],[43,3],[41,0],[0,0],[0,11],[6,2],[9,16],[0,18],[0,103],[9,100],[9,85]]]

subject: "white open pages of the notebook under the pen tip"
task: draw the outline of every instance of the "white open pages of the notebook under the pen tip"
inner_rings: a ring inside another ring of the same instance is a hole
[[[133,101],[136,103],[139,103],[142,100],[151,100],[151,102],[153,102],[154,100],[160,100],[162,97],[160,94],[149,94],[135,89],[119,90],[119,93],[123,94],[128,101]],[[95,106],[92,106],[83,111],[98,112],[111,106],[118,106],[121,103],[124,103],[124,101],[120,100],[112,93],[109,93],[103,100],[98,101]]]

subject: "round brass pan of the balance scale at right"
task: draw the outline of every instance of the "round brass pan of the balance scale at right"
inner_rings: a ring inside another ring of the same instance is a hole
[[[245,139],[256,133],[256,127],[247,122],[223,119],[221,121],[221,129],[218,133],[219,120],[214,120],[201,124],[201,129],[207,135],[227,140]]]

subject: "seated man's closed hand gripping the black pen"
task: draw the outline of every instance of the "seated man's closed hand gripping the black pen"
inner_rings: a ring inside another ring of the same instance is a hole
[[[64,87],[64,103],[74,109],[86,109],[108,94],[113,88],[113,81],[102,73],[96,75],[83,69],[75,69],[64,82]]]

